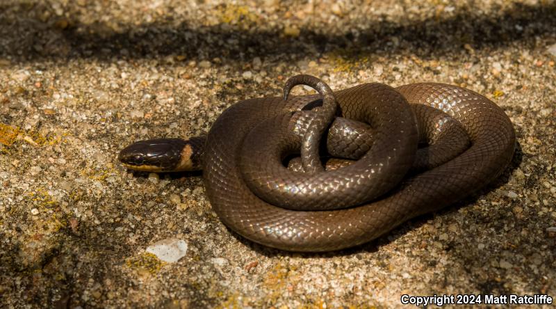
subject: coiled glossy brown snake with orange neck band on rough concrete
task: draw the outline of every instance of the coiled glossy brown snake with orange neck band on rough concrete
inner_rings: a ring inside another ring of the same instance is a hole
[[[290,95],[297,85],[317,91]],[[486,187],[512,160],[505,112],[459,86],[366,83],[333,91],[311,75],[231,104],[208,134],[121,150],[136,171],[202,170],[231,230],[285,251],[337,251]]]

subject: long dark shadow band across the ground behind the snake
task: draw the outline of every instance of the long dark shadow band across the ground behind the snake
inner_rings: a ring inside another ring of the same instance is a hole
[[[69,58],[157,58],[183,55],[188,59],[213,57],[248,61],[256,56],[304,58],[324,52],[347,52],[391,56],[415,54],[420,57],[457,56],[473,49],[497,48],[520,42],[534,46],[539,36],[553,35],[556,4],[516,3],[511,10],[485,15],[473,8],[450,17],[407,20],[402,24],[369,19],[361,32],[327,34],[327,29],[300,29],[296,38],[282,29],[251,31],[229,25],[194,27],[187,21],[179,26],[161,23],[124,25],[116,33],[104,24],[80,24],[79,15],[60,23],[41,22],[38,12],[51,10],[42,3],[0,5],[0,55],[17,61],[64,60]],[[16,12],[19,18],[7,16]],[[54,13],[52,16],[56,16]],[[393,43],[396,37],[398,43]],[[231,41],[235,43],[230,43]],[[56,47],[52,47],[56,45]],[[9,46],[6,49],[6,46]],[[61,47],[60,47],[61,46]]]

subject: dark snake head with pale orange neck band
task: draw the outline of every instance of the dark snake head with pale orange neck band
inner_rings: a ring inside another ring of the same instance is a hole
[[[131,170],[146,172],[197,171],[200,169],[199,149],[192,140],[155,138],[133,143],[118,159]]]

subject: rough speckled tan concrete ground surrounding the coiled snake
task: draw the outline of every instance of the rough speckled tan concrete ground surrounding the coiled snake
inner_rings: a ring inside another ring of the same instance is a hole
[[[555,15],[554,1],[1,1],[0,306],[556,296]],[[301,72],[333,89],[476,90],[514,122],[516,159],[460,205],[318,255],[237,237],[199,174],[133,174],[117,162],[133,141],[207,132],[227,106],[279,95]],[[178,262],[145,251],[167,238],[188,246]]]

